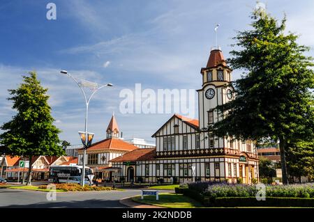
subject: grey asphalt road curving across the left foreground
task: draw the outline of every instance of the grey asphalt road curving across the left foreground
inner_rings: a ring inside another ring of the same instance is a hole
[[[0,207],[126,207],[119,200],[140,195],[139,189],[125,191],[87,191],[57,193],[57,200],[47,200],[47,192],[0,189]]]

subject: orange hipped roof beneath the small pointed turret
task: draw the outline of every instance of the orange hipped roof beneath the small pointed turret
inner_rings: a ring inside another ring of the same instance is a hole
[[[120,138],[106,138],[103,141],[94,143],[89,148],[87,148],[87,150],[105,150],[105,149],[132,151],[136,150],[137,147],[130,143],[126,143]],[[82,148],[80,150],[82,150]]]

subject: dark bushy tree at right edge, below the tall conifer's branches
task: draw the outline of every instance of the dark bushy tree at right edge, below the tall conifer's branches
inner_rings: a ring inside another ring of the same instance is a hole
[[[301,176],[314,179],[314,142],[297,141],[288,144],[287,171],[301,182]]]

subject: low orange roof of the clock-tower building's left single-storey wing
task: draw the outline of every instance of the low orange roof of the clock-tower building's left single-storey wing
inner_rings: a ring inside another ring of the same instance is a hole
[[[110,162],[154,160],[155,156],[156,148],[138,148],[131,152],[127,152],[120,157],[114,158]]]

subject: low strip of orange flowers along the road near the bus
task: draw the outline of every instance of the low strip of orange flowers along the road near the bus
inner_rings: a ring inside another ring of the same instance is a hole
[[[112,191],[116,190],[112,187],[91,187],[85,185],[84,187],[80,186],[79,184],[54,184],[57,190],[63,191]],[[47,189],[47,185],[41,185],[38,187],[39,189]]]

